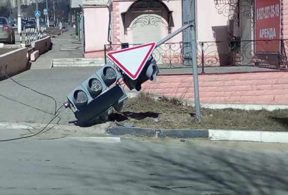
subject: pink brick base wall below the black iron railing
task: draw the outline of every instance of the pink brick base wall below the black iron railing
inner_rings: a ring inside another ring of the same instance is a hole
[[[193,75],[159,75],[142,89],[194,100]],[[199,91],[204,103],[287,104],[288,71],[200,74]]]

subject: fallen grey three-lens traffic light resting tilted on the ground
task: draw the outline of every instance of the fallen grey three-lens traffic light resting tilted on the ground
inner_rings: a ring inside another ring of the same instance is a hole
[[[121,77],[109,62],[67,95],[68,103],[65,105],[75,108],[77,125],[85,125],[98,117],[107,120],[109,109],[122,109],[123,101],[127,99],[124,88],[116,85],[109,89]]]

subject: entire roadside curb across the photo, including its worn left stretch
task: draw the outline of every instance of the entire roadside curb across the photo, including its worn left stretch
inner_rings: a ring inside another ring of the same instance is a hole
[[[110,124],[111,125],[111,124]],[[7,123],[1,122],[0,129],[40,129],[46,124],[37,123]],[[212,141],[245,141],[245,142],[266,142],[266,143],[288,143],[288,132],[281,131],[242,131],[242,130],[166,130],[166,129],[148,129],[136,127],[119,127],[109,126],[107,123],[99,124],[92,127],[81,128],[73,125],[56,125],[50,124],[47,129],[54,128],[66,131],[89,131],[94,133],[111,135],[135,135],[140,137],[155,137],[155,138],[206,138]]]

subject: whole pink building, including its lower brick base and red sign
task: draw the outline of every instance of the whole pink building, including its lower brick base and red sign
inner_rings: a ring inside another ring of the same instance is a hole
[[[83,10],[85,57],[104,60],[105,52],[127,44],[157,42],[189,21],[195,24],[198,65],[218,70],[199,74],[201,102],[287,102],[288,0],[83,0]],[[183,32],[157,48],[158,66],[189,67],[189,42]],[[229,72],[231,66],[237,71]],[[142,89],[194,100],[190,70],[163,70],[157,83]]]

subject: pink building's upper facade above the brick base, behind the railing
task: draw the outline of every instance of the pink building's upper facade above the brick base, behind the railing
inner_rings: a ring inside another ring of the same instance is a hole
[[[257,20],[261,2],[273,5],[275,21],[279,19],[279,24],[275,23],[276,31],[272,31],[277,34],[274,40],[278,41],[268,44],[256,37],[257,27],[261,28],[262,37],[268,32]],[[286,7],[287,0],[83,0],[84,56],[104,57],[105,50],[157,42],[190,21],[195,24],[199,42],[199,66],[286,68],[283,51],[287,43],[282,40],[280,44],[280,39],[288,35]],[[189,47],[184,32],[157,48],[153,56],[160,67],[190,65]]]

